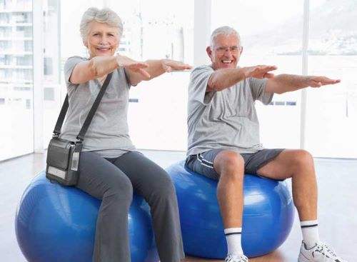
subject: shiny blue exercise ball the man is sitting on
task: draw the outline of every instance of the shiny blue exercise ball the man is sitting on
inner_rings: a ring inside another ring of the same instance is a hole
[[[217,181],[189,171],[183,161],[166,171],[176,187],[185,253],[224,258],[227,246],[216,196]],[[243,191],[243,251],[248,257],[263,256],[278,248],[291,231],[291,193],[285,182],[247,174]]]

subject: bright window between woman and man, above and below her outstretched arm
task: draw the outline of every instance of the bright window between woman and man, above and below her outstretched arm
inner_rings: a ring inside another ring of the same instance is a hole
[[[193,64],[193,1],[111,1],[110,7],[124,21],[119,54]],[[165,74],[131,88],[129,133],[138,148],[186,150],[189,74]]]

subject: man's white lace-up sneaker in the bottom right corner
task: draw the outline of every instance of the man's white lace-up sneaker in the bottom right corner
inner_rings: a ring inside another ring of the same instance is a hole
[[[313,248],[307,249],[306,244],[301,243],[298,262],[348,262],[338,257],[333,249],[326,243],[318,242]]]

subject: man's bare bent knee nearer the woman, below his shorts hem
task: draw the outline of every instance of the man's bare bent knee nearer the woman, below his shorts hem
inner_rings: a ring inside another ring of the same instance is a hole
[[[244,174],[244,159],[234,151],[223,150],[218,153],[213,161],[217,173],[228,176],[241,176]]]

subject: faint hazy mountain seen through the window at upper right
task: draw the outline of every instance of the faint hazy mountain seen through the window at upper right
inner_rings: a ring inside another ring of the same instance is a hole
[[[293,16],[288,21],[261,34],[244,39],[253,49],[266,49],[274,54],[301,54],[303,17]],[[265,46],[265,47],[262,47]],[[308,54],[357,55],[357,1],[326,0],[310,10]]]

